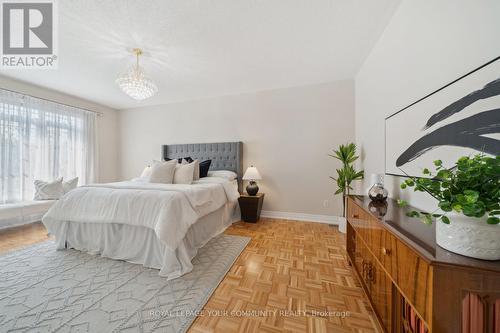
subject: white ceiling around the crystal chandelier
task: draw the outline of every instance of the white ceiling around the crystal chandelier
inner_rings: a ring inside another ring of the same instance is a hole
[[[64,0],[59,68],[2,74],[113,108],[352,79],[399,0]],[[158,94],[115,78],[144,49]]]

